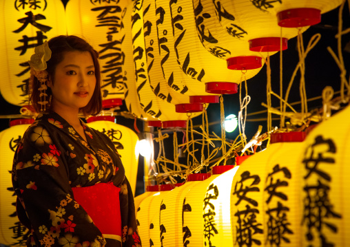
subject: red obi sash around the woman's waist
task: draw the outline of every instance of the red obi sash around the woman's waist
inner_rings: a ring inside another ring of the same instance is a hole
[[[121,189],[112,183],[99,183],[72,190],[74,200],[85,209],[103,237],[121,241]]]

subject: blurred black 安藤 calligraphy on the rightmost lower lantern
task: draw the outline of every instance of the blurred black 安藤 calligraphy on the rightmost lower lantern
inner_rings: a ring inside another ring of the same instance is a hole
[[[327,239],[324,229],[328,228],[333,233],[338,233],[336,223],[329,222],[331,219],[341,219],[342,215],[333,209],[334,204],[330,200],[331,175],[327,173],[325,165],[335,165],[333,158],[337,149],[331,139],[316,136],[313,144],[307,147],[305,158],[305,191],[304,214],[302,224],[307,226],[305,235],[307,241],[313,241],[317,237],[321,246],[334,246],[331,239]],[[317,181],[317,182],[316,182]]]

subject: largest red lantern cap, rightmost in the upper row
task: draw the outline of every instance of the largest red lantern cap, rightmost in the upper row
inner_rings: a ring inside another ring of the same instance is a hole
[[[283,28],[300,28],[321,22],[321,10],[316,8],[293,8],[277,14],[278,25]]]

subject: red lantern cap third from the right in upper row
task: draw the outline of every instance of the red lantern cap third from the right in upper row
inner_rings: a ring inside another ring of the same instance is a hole
[[[258,69],[262,66],[260,56],[235,56],[228,58],[227,68],[234,70]]]

